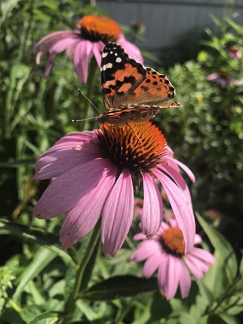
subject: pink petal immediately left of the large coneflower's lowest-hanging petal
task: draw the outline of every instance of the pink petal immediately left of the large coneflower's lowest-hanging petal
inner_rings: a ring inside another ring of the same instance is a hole
[[[69,248],[88,234],[101,216],[105,200],[115,183],[117,167],[111,166],[103,173],[96,187],[67,212],[60,230],[63,249]]]

